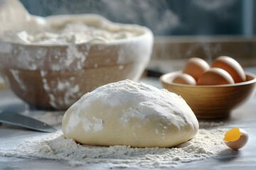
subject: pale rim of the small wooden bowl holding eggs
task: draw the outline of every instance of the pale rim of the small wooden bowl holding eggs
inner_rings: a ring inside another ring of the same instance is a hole
[[[247,85],[247,84],[253,84],[256,82],[256,75],[250,72],[245,72],[246,76],[252,77],[251,80],[249,81],[244,81],[244,82],[240,82],[240,83],[236,83],[236,84],[221,84],[221,85],[188,85],[188,84],[176,84],[176,83],[171,83],[171,82],[167,82],[166,79],[168,77],[173,77],[176,74],[181,73],[181,71],[176,71],[176,72],[170,72],[170,73],[166,73],[161,75],[161,77],[159,78],[159,80],[162,83],[171,85],[171,86],[183,86],[183,87],[191,87],[191,88],[202,88],[202,87],[206,87],[206,88],[218,88],[218,87],[228,87],[228,86],[243,86],[243,85]]]

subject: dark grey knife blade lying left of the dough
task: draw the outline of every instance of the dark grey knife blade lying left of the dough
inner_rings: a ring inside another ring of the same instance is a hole
[[[36,130],[39,132],[55,132],[56,129],[47,125],[46,123],[41,122],[30,118],[26,115],[21,115],[18,113],[12,112],[1,112],[0,113],[0,123],[9,123],[11,125],[18,125],[23,128],[28,128],[31,130]]]

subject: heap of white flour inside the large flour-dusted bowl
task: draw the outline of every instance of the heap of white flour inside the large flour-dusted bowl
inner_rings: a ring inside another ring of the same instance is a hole
[[[107,30],[104,28],[96,28],[87,26],[85,23],[66,23],[63,28],[52,28],[41,33],[31,33],[21,31],[17,33],[18,38],[28,44],[67,44],[82,43],[88,41],[109,42],[112,40],[120,40],[137,36],[137,32],[129,32],[127,30]]]

